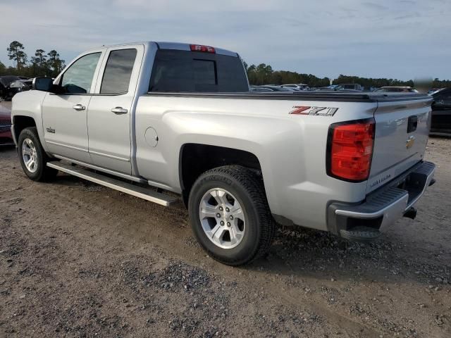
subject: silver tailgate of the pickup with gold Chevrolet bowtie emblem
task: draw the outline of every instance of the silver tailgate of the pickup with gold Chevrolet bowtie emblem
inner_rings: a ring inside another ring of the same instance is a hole
[[[372,192],[421,161],[428,142],[431,98],[388,96],[374,113],[376,133],[366,187]]]

